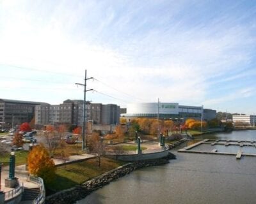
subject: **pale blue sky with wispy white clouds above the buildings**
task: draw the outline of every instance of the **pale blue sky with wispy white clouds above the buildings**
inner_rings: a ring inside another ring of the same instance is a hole
[[[256,1],[0,0],[0,98],[256,113]]]

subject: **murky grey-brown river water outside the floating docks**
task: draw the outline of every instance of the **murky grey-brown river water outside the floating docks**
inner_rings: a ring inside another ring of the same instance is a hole
[[[256,131],[200,136],[256,140]],[[180,147],[179,147],[180,148]],[[143,168],[111,182],[77,203],[225,203],[256,202],[256,157],[179,153],[169,164]]]

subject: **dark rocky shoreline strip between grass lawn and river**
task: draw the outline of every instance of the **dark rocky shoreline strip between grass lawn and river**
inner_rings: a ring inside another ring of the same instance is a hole
[[[124,175],[127,175],[134,170],[147,166],[158,166],[162,164],[167,164],[169,163],[169,159],[175,159],[175,155],[169,153],[167,157],[163,157],[161,159],[152,159],[145,161],[136,161],[134,163],[127,163],[123,166],[119,166],[114,170],[103,173],[98,177],[88,180],[84,184],[72,187],[70,189],[66,189],[64,191],[60,191],[58,193],[52,194],[51,196],[47,196],[45,198],[45,204],[76,203],[77,200],[85,198],[86,196],[88,196],[88,194],[92,193],[93,191],[109,184],[114,180],[117,180],[120,177],[124,177]]]

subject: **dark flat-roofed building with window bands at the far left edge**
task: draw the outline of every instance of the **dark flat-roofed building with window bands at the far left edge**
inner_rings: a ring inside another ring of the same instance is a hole
[[[0,99],[0,122],[10,128],[22,122],[30,122],[35,114],[36,105],[47,105],[41,102]]]

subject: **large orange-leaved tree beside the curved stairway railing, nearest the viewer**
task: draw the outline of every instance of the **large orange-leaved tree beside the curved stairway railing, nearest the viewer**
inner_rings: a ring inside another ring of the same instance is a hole
[[[44,145],[36,145],[28,155],[28,171],[49,184],[54,179],[55,165]]]

